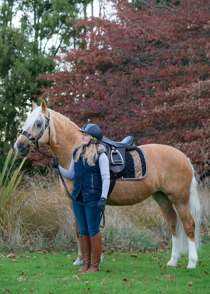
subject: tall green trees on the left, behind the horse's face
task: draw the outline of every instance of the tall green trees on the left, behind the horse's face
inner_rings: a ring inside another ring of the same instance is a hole
[[[37,99],[40,74],[55,71],[57,52],[80,41],[73,28],[81,1],[3,0],[0,6],[0,170],[13,146],[31,100]],[[19,17],[19,26],[15,20]]]

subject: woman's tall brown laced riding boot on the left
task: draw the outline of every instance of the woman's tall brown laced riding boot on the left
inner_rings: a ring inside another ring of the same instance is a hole
[[[80,270],[76,270],[76,272],[83,273],[91,266],[91,237],[79,235],[79,245],[82,253],[83,266]]]

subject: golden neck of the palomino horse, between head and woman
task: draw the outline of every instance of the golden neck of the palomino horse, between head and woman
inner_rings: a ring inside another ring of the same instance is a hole
[[[53,156],[58,157],[60,165],[69,169],[73,151],[76,146],[81,144],[79,127],[54,111],[51,114],[51,119],[53,125],[50,127],[51,135],[48,146]]]

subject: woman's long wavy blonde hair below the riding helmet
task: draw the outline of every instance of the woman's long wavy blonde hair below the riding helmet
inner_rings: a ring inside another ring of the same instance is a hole
[[[92,139],[93,143],[97,142],[97,139],[93,137]],[[95,165],[96,160],[98,159],[98,153],[102,153],[106,151],[106,147],[103,146],[102,144],[90,144],[90,152],[86,155],[82,156],[82,161],[83,163],[87,159],[88,165],[93,167]],[[80,145],[77,148],[76,154],[74,156],[74,162],[78,162],[80,155],[83,153],[85,154],[85,145]]]

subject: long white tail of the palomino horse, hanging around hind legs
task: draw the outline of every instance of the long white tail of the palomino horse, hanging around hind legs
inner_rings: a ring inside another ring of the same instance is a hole
[[[191,164],[191,163],[190,163]],[[191,165],[192,167],[192,165]],[[196,249],[199,249],[201,245],[200,239],[200,223],[201,223],[201,206],[198,197],[197,182],[194,175],[194,169],[192,167],[193,176],[190,185],[190,195],[189,195],[189,211],[195,222],[195,246]],[[184,230],[184,226],[179,216],[177,216],[177,226],[176,226],[176,236],[180,245],[180,250],[183,253],[188,252],[188,239]]]

